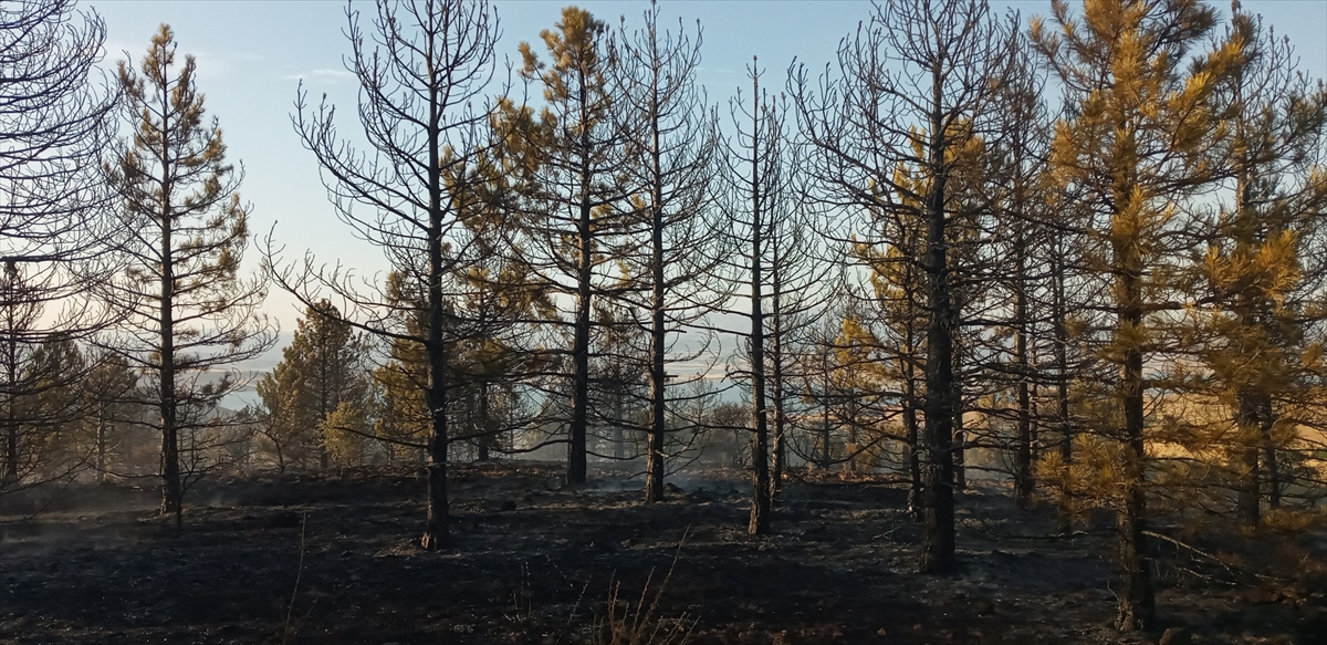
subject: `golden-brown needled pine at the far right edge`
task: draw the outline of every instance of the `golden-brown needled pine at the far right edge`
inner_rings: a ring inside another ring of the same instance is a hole
[[[1202,352],[1231,410],[1237,514],[1255,527],[1265,496],[1281,500],[1278,454],[1295,435],[1283,414],[1303,403],[1306,333],[1322,316],[1306,291],[1327,269],[1314,260],[1327,177],[1315,166],[1327,119],[1327,90],[1296,73],[1294,50],[1259,19],[1234,5],[1225,38],[1242,45],[1242,62],[1221,84],[1230,139],[1220,149],[1233,175],[1233,203],[1201,267],[1210,307]],[[1279,427],[1278,427],[1279,426]]]

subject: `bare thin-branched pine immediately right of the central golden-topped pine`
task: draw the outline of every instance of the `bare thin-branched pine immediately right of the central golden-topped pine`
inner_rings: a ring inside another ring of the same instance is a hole
[[[646,429],[645,500],[664,499],[665,435],[667,427],[667,374],[671,338],[698,321],[726,297],[715,289],[714,268],[723,256],[715,247],[722,236],[710,208],[717,190],[718,119],[695,85],[701,64],[701,35],[694,40],[679,27],[660,31],[660,8],[645,12],[644,29],[614,41],[608,69],[620,102],[624,146],[632,150],[625,165],[634,211],[629,235],[648,243],[626,260],[637,283],[624,297],[649,316],[650,422]],[[640,291],[637,296],[634,291]],[[703,354],[671,356],[671,362]]]

